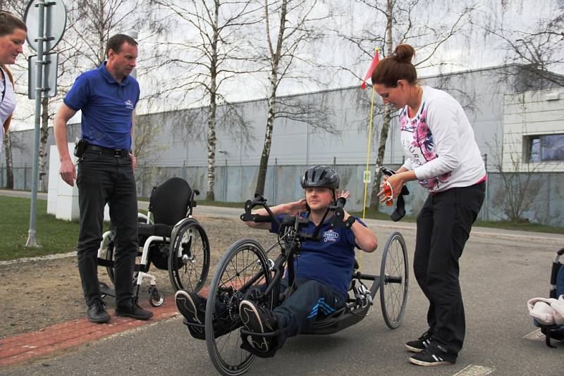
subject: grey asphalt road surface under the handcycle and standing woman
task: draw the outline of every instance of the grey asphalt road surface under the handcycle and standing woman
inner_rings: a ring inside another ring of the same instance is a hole
[[[202,214],[207,209],[198,208]],[[216,211],[217,210],[217,211]],[[233,215],[219,208],[207,215]],[[369,221],[381,244],[400,227],[412,250],[412,225]],[[249,375],[562,375],[564,344],[549,349],[525,339],[535,328],[526,302],[548,294],[551,261],[564,236],[473,232],[461,259],[467,338],[458,363],[421,368],[407,362],[403,344],[426,330],[424,296],[411,278],[407,313],[397,330],[381,318],[379,301],[372,315],[329,336],[290,339],[275,358],[259,359]],[[365,270],[379,272],[381,253],[365,258]],[[411,256],[410,256],[411,257]],[[42,361],[0,371],[2,375],[215,375],[203,341],[190,337],[179,318],[125,332]]]

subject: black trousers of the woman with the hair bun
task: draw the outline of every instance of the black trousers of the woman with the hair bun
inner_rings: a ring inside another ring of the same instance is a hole
[[[462,349],[466,330],[458,259],[485,192],[486,183],[482,182],[429,194],[417,216],[415,279],[429,300],[431,340],[446,346],[453,358]]]

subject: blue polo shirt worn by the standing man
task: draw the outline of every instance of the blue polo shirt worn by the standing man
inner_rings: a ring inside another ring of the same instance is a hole
[[[88,143],[110,149],[130,149],[131,115],[139,101],[139,83],[126,76],[114,80],[106,68],[78,76],[63,99],[74,111],[82,110],[82,138]]]

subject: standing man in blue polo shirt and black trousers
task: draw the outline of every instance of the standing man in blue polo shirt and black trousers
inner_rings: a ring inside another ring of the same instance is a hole
[[[139,100],[139,84],[130,73],[135,68],[137,42],[128,35],[114,35],[106,46],[107,61],[82,73],[54,119],[54,134],[61,158],[61,178],[78,187],[80,234],[78,270],[87,303],[87,318],[108,322],[100,294],[97,251],[102,241],[104,206],[109,205],[115,227],[116,315],[147,320],[145,311],[133,299],[133,270],[137,256],[137,189],[135,156],[131,151],[133,110]],[[81,110],[82,140],[78,175],[67,148],[66,125]]]

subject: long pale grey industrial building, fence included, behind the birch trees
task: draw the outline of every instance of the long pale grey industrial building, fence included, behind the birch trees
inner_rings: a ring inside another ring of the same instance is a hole
[[[474,127],[490,175],[488,203],[482,211],[482,219],[504,218],[502,208],[496,206],[500,199],[496,192],[506,189],[501,183],[501,168],[503,173],[533,173],[533,180],[547,180],[549,184],[541,185],[550,205],[540,207],[546,203],[539,200],[524,215],[535,222],[564,225],[564,87],[555,83],[562,82],[563,76],[555,74],[553,77],[554,80],[540,79],[522,65],[422,77],[422,84],[445,89],[458,99]],[[362,91],[360,85],[283,97],[288,106],[286,110],[291,112],[299,108],[303,113],[275,120],[265,196],[274,203],[293,200],[302,194],[298,176],[305,166],[334,164],[343,175],[346,188],[355,197],[348,205],[362,209],[370,99],[370,90]],[[381,108],[379,99],[375,108],[378,113]],[[235,109],[247,126],[247,136],[240,132],[234,117],[226,115]],[[146,146],[152,153],[139,161],[137,170],[140,196],[148,196],[153,185],[175,175],[185,177],[192,187],[205,192],[206,111],[206,108],[190,108],[137,117],[137,123],[148,125],[147,129],[152,132],[152,142]],[[266,99],[240,102],[231,108],[218,106],[216,200],[245,201],[252,196],[264,142],[266,114]],[[304,122],[304,116],[311,124]],[[384,156],[384,164],[395,167],[403,162],[396,122],[394,118]],[[326,132],[314,126],[319,124],[336,132]],[[380,127],[381,115],[375,115],[370,150],[372,170]],[[68,133],[69,139],[74,139],[80,135],[80,126],[71,125]],[[26,145],[13,151],[14,165],[19,168],[25,164],[30,166],[32,156],[28,151],[32,149],[32,132],[13,132],[13,137],[18,139],[18,144]],[[48,144],[54,144],[52,134]],[[27,170],[30,174],[31,169]],[[16,171],[17,189],[23,189],[23,184],[30,185],[30,178],[23,178],[23,173],[21,169]],[[1,175],[5,176],[5,173]],[[0,186],[4,179],[0,179]],[[408,213],[416,212],[425,196],[417,187],[412,191],[412,197],[407,200]]]

